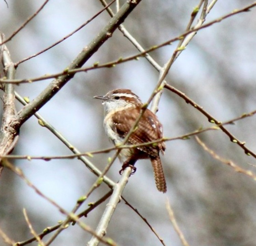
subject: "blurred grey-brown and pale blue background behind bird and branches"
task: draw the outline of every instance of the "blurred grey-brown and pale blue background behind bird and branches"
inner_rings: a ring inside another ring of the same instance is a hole
[[[44,1],[0,1],[1,32],[9,37]],[[253,1],[217,1],[206,23]],[[124,22],[127,30],[144,48],[160,44],[186,28],[199,0],[143,0]],[[115,5],[112,5],[114,8]],[[95,0],[49,1],[44,9],[6,45],[14,62],[48,47],[86,22],[102,9]],[[236,118],[256,108],[256,9],[232,16],[221,23],[200,30],[170,69],[167,81],[195,100],[219,121]],[[54,48],[17,68],[16,78],[33,78],[62,71],[90,40],[97,35],[110,16],[103,12],[79,32]],[[171,57],[176,43],[151,53],[160,65]],[[114,35],[85,64],[118,59],[138,51],[120,33]],[[129,88],[146,101],[158,80],[158,72],[143,58],[79,73],[39,113],[81,152],[111,147],[102,127],[103,107],[95,95],[114,88]],[[51,80],[20,84],[16,91],[32,100]],[[17,102],[17,109],[22,106]],[[207,118],[179,96],[164,90],[157,113],[166,137],[179,136],[200,127],[212,126]],[[226,127],[246,146],[256,151],[255,117]],[[221,131],[200,134],[200,138],[217,154],[256,173],[253,157],[248,157]],[[256,183],[243,174],[213,159],[194,137],[170,141],[162,163],[167,179],[167,193],[159,193],[148,160],[138,161],[124,197],[155,228],[166,245],[181,245],[168,218],[167,198],[177,223],[190,245],[256,245]],[[64,155],[71,152],[47,129],[31,117],[20,129],[15,154]],[[95,155],[91,161],[101,170],[113,153]],[[86,194],[96,180],[79,160],[17,160],[14,162],[26,177],[45,195],[70,211],[76,200]],[[108,177],[118,181],[120,163],[115,161]],[[109,188],[102,184],[88,199],[96,201]],[[82,221],[96,228],[105,208],[101,204]],[[23,241],[32,235],[23,208],[35,231],[65,219],[56,207],[36,194],[7,168],[0,179],[0,228],[13,240]],[[86,204],[80,210],[86,209]],[[51,234],[49,235],[51,236]],[[46,236],[44,240],[49,238]],[[119,245],[161,245],[143,220],[124,202],[120,202],[108,227],[107,236]],[[70,226],[52,245],[85,245],[91,238],[79,226]],[[0,245],[5,245],[0,238]],[[30,245],[37,245],[31,243]]]

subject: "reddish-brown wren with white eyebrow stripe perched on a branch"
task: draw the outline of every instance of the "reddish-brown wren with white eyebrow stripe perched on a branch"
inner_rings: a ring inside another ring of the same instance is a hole
[[[115,89],[108,92],[105,96],[95,96],[94,98],[103,100],[103,125],[106,134],[115,145],[121,144],[140,115],[143,103],[129,89]],[[149,109],[146,109],[126,144],[137,145],[156,141],[160,138],[162,138],[162,125],[156,115]],[[154,169],[156,187],[158,191],[165,193],[166,181],[159,157],[160,151],[162,154],[165,153],[164,142],[122,149],[118,156],[119,160],[123,163],[121,170],[124,170],[129,165],[133,166],[139,159],[150,159]]]

